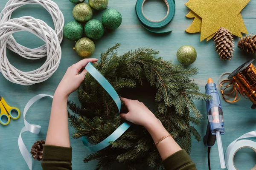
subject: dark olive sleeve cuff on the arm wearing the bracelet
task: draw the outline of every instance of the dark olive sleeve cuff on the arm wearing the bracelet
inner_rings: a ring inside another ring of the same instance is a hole
[[[163,160],[163,166],[166,170],[197,170],[185,150],[180,150]]]

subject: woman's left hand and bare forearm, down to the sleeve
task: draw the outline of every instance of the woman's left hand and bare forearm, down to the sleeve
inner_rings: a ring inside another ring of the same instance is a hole
[[[84,74],[87,73],[86,70],[83,70],[81,74],[79,74],[79,72],[88,64],[88,62],[96,61],[98,61],[98,59],[83,59],[67,69],[66,74],[55,91],[52,101],[52,111],[46,137],[46,144],[70,147],[67,98],[71,93],[79,88],[79,85],[84,80]]]

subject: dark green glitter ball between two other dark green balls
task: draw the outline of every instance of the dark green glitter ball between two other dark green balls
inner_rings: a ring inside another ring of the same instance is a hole
[[[88,38],[98,40],[104,34],[104,27],[99,20],[90,20],[85,24],[84,32]]]

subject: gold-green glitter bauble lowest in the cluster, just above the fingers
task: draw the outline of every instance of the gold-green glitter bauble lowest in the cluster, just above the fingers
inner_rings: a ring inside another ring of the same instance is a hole
[[[95,51],[95,44],[89,38],[81,38],[76,42],[75,50],[80,57],[87,58],[93,55]]]

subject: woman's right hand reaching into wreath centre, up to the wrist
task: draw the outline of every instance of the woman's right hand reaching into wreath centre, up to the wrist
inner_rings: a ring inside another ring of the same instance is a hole
[[[155,122],[160,122],[142,102],[125,98],[121,99],[124,101],[125,106],[128,109],[128,113],[120,114],[123,119],[128,120],[129,122],[132,122],[136,125],[142,125],[146,128]]]

